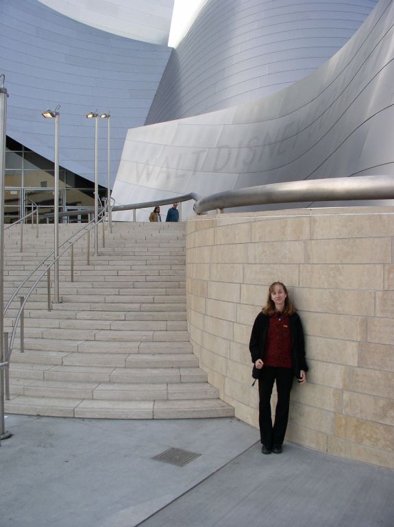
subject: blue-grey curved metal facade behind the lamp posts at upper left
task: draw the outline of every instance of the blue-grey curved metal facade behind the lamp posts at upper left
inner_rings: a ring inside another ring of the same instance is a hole
[[[60,104],[60,165],[93,180],[94,111],[111,114],[111,173],[130,126],[141,126],[171,50],[83,25],[38,0],[1,0],[0,70],[10,99],[7,132],[53,160],[53,126],[42,110]],[[107,127],[99,127],[99,179],[107,186]]]

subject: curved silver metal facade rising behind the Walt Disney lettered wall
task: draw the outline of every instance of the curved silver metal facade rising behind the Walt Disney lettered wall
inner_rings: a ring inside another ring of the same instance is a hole
[[[376,0],[208,0],[171,58],[145,124],[261,99],[341,49]]]

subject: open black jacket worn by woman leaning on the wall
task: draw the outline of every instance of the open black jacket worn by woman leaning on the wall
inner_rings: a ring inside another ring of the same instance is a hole
[[[291,331],[291,361],[293,362],[294,375],[299,379],[299,371],[308,371],[305,360],[304,330],[302,329],[301,319],[297,313],[288,317]],[[251,362],[253,364],[258,359],[264,362],[265,345],[267,344],[267,331],[269,326],[269,316],[260,312],[256,316],[249,342]]]

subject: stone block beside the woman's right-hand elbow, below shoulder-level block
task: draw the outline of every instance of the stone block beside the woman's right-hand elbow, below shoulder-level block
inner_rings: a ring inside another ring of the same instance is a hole
[[[353,340],[308,336],[306,338],[306,357],[307,359],[357,366],[358,345],[358,342]]]

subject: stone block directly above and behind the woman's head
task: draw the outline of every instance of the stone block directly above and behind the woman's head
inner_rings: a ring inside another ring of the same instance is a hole
[[[287,287],[298,285],[299,266],[293,264],[245,264],[244,265],[244,283],[254,283],[256,285],[268,286],[275,282],[281,281]]]

